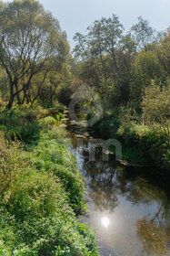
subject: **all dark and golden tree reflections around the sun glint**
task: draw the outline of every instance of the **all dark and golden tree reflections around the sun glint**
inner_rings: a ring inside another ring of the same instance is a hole
[[[143,243],[141,256],[167,256],[170,204],[164,189],[156,187],[150,182],[151,179],[138,173],[137,169],[135,172],[135,168],[131,171],[129,167],[104,163],[100,157],[95,162],[88,162],[88,155],[85,155],[83,172],[95,208],[114,211],[120,196],[134,205],[156,203],[157,211],[152,212],[150,218],[145,217],[136,222],[137,235]]]

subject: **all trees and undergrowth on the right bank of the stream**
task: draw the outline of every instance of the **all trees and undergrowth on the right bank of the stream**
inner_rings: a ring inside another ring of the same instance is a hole
[[[125,160],[170,166],[170,31],[138,18],[125,34],[117,16],[75,35],[74,72],[100,97],[97,136],[117,138]],[[98,99],[97,99],[98,101]],[[91,108],[89,120],[95,115]],[[140,145],[140,147],[139,147]]]

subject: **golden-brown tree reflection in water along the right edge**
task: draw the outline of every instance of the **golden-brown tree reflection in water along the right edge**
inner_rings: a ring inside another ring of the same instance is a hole
[[[148,201],[156,201],[158,204],[152,219],[145,217],[136,222],[137,235],[143,242],[141,255],[168,256],[167,234],[163,223],[168,221],[170,216],[165,192],[149,185],[143,179],[135,181],[135,187]]]

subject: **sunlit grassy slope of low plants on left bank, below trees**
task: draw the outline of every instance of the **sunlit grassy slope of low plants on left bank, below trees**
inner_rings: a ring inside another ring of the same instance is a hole
[[[98,255],[94,233],[75,218],[85,210],[84,180],[65,133],[55,118],[31,116],[0,117],[13,139],[0,133],[0,255]]]

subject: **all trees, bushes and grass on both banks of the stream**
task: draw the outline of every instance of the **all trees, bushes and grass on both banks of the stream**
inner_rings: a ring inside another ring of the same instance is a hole
[[[118,139],[125,160],[170,166],[169,29],[139,17],[125,34],[113,15],[86,31],[71,55],[37,1],[0,2],[0,255],[98,255],[94,233],[75,218],[84,180],[58,127],[84,82],[95,92],[87,120],[97,102],[103,109],[96,136]]]

